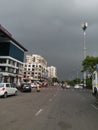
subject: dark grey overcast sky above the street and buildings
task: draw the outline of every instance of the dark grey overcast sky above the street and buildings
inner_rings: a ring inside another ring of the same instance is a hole
[[[87,55],[98,56],[98,0],[0,0],[0,24],[28,54],[42,55],[60,79],[80,73],[83,30]]]

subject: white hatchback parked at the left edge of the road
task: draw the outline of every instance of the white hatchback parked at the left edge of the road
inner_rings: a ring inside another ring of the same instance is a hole
[[[12,83],[0,83],[0,97],[6,98],[9,95],[17,95],[17,88]]]

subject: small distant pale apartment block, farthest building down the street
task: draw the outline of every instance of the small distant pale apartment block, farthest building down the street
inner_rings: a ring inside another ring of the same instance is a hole
[[[47,67],[48,78],[57,78],[57,69],[54,66]]]

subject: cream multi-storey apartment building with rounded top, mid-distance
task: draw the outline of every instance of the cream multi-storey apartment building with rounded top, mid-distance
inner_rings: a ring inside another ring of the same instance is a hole
[[[24,63],[24,80],[43,80],[47,78],[47,61],[40,55],[26,55]]]

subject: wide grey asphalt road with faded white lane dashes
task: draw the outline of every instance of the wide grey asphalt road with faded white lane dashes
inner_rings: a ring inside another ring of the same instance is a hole
[[[98,130],[98,105],[89,90],[19,92],[0,98],[0,130]]]

